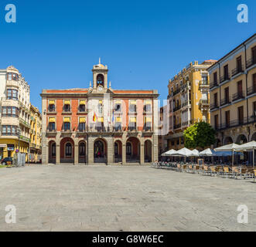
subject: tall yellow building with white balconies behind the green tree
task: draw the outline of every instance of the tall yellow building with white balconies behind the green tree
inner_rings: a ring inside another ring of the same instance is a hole
[[[210,123],[209,73],[207,69],[215,60],[189,63],[169,80],[170,127],[168,149],[184,147],[183,131],[193,123]]]

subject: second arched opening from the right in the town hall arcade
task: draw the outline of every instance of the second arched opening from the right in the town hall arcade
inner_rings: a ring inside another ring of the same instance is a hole
[[[126,162],[140,162],[140,142],[136,137],[129,137],[126,141]]]

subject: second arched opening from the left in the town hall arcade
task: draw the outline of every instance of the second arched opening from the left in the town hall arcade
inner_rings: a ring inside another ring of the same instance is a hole
[[[74,162],[74,144],[70,137],[60,140],[60,163]]]

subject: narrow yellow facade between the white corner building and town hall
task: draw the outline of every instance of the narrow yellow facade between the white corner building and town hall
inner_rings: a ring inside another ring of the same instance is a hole
[[[42,115],[37,107],[30,104],[29,162],[39,162],[42,154]]]

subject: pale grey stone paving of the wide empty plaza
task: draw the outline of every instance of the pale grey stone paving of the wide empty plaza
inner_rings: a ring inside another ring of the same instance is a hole
[[[256,183],[152,167],[0,169],[1,231],[254,231]],[[16,223],[5,223],[15,205]],[[247,205],[248,224],[237,223]]]

